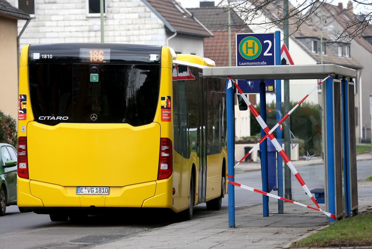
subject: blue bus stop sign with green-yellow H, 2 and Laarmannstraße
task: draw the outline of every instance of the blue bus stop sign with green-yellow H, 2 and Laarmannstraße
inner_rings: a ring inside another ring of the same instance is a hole
[[[275,65],[274,33],[237,33],[237,66]]]

